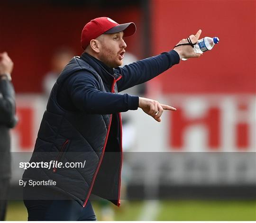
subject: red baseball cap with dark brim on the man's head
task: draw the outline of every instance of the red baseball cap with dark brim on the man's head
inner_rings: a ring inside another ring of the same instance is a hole
[[[92,39],[101,36],[101,34],[119,33],[121,31],[124,31],[124,36],[131,36],[136,32],[136,26],[133,22],[118,24],[108,17],[94,18],[82,29],[82,48],[85,49]]]

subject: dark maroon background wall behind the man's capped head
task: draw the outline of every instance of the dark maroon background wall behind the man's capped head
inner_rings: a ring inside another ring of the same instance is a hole
[[[50,57],[59,47],[68,46],[76,55],[82,54],[82,28],[96,17],[135,22],[137,33],[126,39],[127,51],[143,57],[140,1],[41,2],[0,2],[0,52],[7,51],[15,63],[13,83],[17,93],[42,91]]]

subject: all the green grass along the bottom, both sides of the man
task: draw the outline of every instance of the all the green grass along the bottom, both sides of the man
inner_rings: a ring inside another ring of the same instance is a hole
[[[93,203],[98,220],[101,220],[100,206]],[[207,201],[168,200],[160,201],[157,221],[256,221],[256,201]],[[110,204],[117,221],[136,221],[144,202],[121,203],[120,207]],[[10,201],[7,221],[27,221],[27,209],[22,201]]]

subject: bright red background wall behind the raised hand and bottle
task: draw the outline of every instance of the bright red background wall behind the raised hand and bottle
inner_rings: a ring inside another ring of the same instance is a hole
[[[160,75],[165,93],[256,92],[255,0],[152,0],[152,49],[159,54],[202,30],[219,44]]]

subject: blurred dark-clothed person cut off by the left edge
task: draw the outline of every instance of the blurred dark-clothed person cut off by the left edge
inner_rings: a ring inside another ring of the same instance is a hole
[[[11,177],[10,129],[17,123],[15,92],[11,83],[13,62],[0,53],[0,221],[4,221]]]

